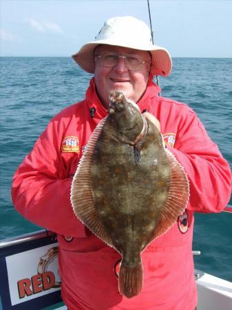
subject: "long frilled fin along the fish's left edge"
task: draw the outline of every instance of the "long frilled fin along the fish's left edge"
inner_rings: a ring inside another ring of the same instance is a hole
[[[87,226],[98,238],[103,240],[107,245],[114,247],[112,238],[105,231],[101,224],[98,212],[94,207],[94,199],[92,195],[92,186],[90,183],[90,167],[92,155],[98,136],[101,134],[106,118],[103,118],[96,126],[92,133],[83,156],[81,157],[76,173],[72,180],[71,186],[71,203],[77,218]],[[115,248],[115,247],[114,247]]]

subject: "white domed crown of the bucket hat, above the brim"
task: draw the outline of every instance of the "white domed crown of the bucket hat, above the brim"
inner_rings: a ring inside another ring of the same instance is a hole
[[[103,28],[95,38],[99,40],[110,40],[130,42],[131,45],[152,45],[151,31],[143,21],[134,17],[113,17],[105,21]]]

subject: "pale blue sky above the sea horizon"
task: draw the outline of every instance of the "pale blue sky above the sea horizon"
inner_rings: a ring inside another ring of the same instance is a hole
[[[1,56],[70,56],[109,17],[149,24],[147,0],[0,0]],[[232,57],[232,1],[150,0],[154,43],[171,56]]]

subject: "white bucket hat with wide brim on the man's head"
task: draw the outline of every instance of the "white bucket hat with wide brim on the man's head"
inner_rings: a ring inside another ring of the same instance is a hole
[[[85,71],[94,73],[94,49],[99,44],[151,52],[151,74],[168,76],[171,72],[171,56],[165,48],[153,45],[151,30],[143,21],[134,17],[113,17],[105,21],[94,41],[83,45],[72,55],[74,61]]]

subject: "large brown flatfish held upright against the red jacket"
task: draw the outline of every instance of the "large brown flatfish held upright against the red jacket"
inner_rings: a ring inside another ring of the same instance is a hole
[[[184,211],[189,181],[136,103],[118,91],[109,99],[76,169],[71,202],[81,222],[122,256],[118,290],[131,298],[143,289],[141,253]]]

